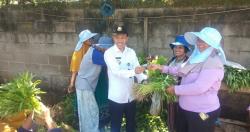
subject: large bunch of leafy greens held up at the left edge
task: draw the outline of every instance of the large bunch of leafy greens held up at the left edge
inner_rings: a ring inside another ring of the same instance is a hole
[[[0,118],[15,116],[19,112],[40,112],[38,95],[44,92],[37,88],[41,80],[32,79],[33,75],[25,72],[0,86]]]

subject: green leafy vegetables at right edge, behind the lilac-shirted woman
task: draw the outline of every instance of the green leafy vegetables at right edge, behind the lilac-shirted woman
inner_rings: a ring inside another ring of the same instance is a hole
[[[228,86],[230,92],[246,88],[250,89],[250,70],[242,70],[225,66],[223,81]]]

